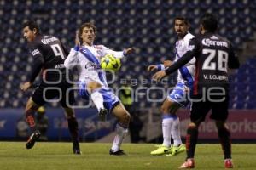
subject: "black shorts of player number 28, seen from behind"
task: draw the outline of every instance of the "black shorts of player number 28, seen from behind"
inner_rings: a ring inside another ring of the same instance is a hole
[[[204,101],[199,101],[202,97],[197,95],[194,96],[193,99],[198,99],[198,101],[192,100],[190,114],[191,122],[203,122],[210,110],[212,110],[212,114],[210,116],[211,119],[216,121],[227,120],[229,116],[229,95],[215,95],[212,96],[211,99],[205,99]]]

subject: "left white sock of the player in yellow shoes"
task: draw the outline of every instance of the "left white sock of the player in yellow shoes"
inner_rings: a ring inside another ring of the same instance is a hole
[[[163,145],[166,147],[171,146],[171,128],[172,128],[172,117],[163,116],[162,131],[163,131]]]

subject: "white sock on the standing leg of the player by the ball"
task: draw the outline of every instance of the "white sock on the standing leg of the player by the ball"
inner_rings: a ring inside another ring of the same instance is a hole
[[[111,150],[118,151],[120,149],[120,146],[125,139],[126,133],[128,133],[128,128],[120,125],[119,123],[116,125],[115,128],[116,135],[113,139],[113,144]]]

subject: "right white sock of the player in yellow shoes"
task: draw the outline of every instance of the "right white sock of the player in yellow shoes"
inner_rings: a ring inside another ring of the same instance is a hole
[[[180,137],[180,126],[179,126],[179,118],[176,116],[176,118],[173,117],[172,120],[172,129],[171,129],[172,139],[173,139],[173,145],[178,146],[180,144],[183,144],[181,137]]]

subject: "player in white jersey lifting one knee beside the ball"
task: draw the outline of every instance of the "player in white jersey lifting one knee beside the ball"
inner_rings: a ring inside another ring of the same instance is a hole
[[[102,71],[100,59],[106,54],[113,54],[117,58],[131,54],[134,48],[127,48],[124,51],[113,51],[103,45],[94,45],[96,37],[96,26],[91,23],[84,23],[79,28],[76,37],[76,46],[71,49],[70,54],[64,62],[68,69],[74,66],[79,71],[79,95],[83,99],[92,99],[99,111],[99,116],[105,116],[107,112],[117,117],[116,136],[109,151],[110,155],[125,155],[120,150],[125,134],[128,132],[130,114],[120,103],[119,98],[108,88],[105,71]],[[80,41],[82,44],[80,45]]]

